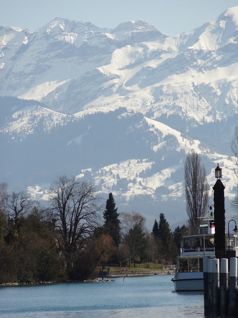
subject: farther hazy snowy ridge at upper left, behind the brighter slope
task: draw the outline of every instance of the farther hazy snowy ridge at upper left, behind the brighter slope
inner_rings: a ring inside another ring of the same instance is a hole
[[[75,77],[108,64],[118,47],[166,35],[144,21],[114,30],[55,18],[37,32],[0,29],[0,94],[41,100]]]

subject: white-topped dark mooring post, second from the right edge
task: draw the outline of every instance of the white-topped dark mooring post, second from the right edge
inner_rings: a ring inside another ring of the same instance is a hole
[[[228,309],[228,259],[221,259],[220,290],[220,312],[224,314]]]

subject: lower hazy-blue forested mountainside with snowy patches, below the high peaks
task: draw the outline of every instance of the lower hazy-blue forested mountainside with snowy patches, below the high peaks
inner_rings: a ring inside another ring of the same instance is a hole
[[[226,204],[235,195],[230,157],[188,133],[125,108],[80,118],[25,103],[10,102],[13,107],[0,125],[0,180],[9,190],[27,189],[46,199],[56,176],[78,175],[95,183],[102,197],[112,191],[120,211],[141,211],[148,226],[160,212],[175,226],[186,222],[183,165],[186,153],[195,149],[211,190],[219,162]]]

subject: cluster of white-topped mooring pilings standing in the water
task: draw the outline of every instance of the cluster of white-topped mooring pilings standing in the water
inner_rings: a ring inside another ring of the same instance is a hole
[[[203,284],[205,312],[235,315],[238,317],[238,262],[236,257],[229,259],[203,257]]]

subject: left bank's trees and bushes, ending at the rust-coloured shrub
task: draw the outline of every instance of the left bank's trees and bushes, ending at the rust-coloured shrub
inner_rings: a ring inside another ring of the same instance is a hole
[[[0,283],[84,279],[114,249],[93,185],[60,176],[49,206],[0,184]]]

